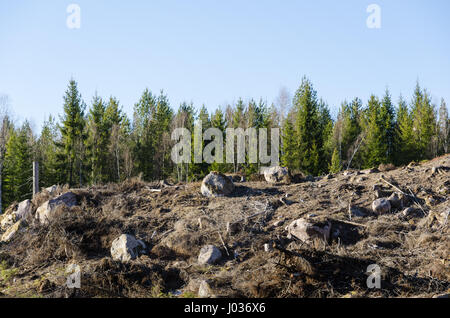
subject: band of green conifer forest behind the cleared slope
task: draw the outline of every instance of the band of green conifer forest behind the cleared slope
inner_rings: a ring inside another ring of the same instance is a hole
[[[271,105],[240,98],[212,113],[205,105],[196,109],[186,102],[175,111],[163,91],[146,89],[129,118],[115,97],[95,94],[88,107],[71,79],[62,116],[49,116],[39,135],[28,121],[17,126],[7,113],[1,116],[0,206],[31,196],[33,161],[40,164],[41,187],[82,187],[138,175],[145,181],[192,181],[211,170],[246,175],[259,171],[259,163],[174,164],[171,132],[180,127],[194,132],[196,120],[203,131],[223,131],[223,140],[226,128],[267,128],[269,136],[270,129],[279,128],[281,164],[310,175],[431,159],[448,153],[450,144],[445,101],[434,105],[419,83],[410,100],[400,96],[394,102],[386,89],[365,104],[359,98],[344,101],[337,118],[306,77],[292,99],[282,90]]]

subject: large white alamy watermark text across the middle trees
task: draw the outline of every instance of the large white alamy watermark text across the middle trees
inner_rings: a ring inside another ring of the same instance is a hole
[[[171,158],[175,164],[181,163],[261,163],[279,165],[280,129],[270,129],[270,154],[268,154],[267,128],[227,128],[224,134],[218,128],[209,128],[202,133],[202,123],[194,126],[192,134],[187,128],[176,128],[172,140],[177,144],[172,148]],[[204,146],[204,142],[208,144]],[[192,151],[193,150],[193,151]],[[225,152],[225,156],[224,156]],[[193,156],[193,158],[192,158]],[[225,159],[224,159],[225,157]],[[194,160],[192,160],[194,159]]]

